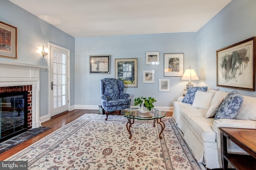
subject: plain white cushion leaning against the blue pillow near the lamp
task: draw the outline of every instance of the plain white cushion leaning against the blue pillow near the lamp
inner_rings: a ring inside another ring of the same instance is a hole
[[[202,92],[200,90],[196,91],[192,106],[198,109],[208,109],[212,102],[213,95],[214,92]]]

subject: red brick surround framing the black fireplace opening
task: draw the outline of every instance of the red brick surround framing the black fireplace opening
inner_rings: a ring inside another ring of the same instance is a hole
[[[28,91],[28,130],[32,129],[32,85],[0,87],[0,93]]]

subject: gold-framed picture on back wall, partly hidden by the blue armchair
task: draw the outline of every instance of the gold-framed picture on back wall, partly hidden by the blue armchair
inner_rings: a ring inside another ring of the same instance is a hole
[[[124,87],[137,87],[137,59],[115,59],[116,79],[124,82]]]

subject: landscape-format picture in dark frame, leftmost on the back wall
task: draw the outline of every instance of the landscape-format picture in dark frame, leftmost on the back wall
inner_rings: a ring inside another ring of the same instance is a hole
[[[110,55],[90,55],[90,74],[110,74]]]

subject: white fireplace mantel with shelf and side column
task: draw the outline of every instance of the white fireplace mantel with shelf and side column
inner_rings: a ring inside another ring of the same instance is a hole
[[[0,87],[32,85],[32,128],[41,126],[40,68],[48,67],[0,61]]]

